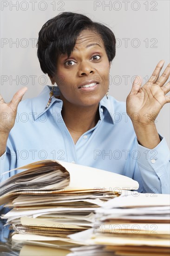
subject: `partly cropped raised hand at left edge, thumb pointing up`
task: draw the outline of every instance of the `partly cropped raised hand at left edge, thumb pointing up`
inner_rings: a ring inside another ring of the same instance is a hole
[[[27,87],[18,90],[9,103],[6,103],[0,95],[0,134],[8,135],[15,123],[18,104],[26,93]]]

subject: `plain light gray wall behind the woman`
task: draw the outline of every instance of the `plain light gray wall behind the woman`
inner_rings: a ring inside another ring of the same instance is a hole
[[[170,62],[170,1],[0,1],[1,94],[10,101],[22,86],[23,98],[37,96],[48,76],[42,73],[36,55],[38,33],[43,24],[64,11],[78,12],[110,27],[117,39],[111,65],[109,94],[125,101],[135,75],[143,85],[157,62]],[[14,43],[15,42],[15,43]],[[157,117],[157,129],[170,145],[170,104]]]

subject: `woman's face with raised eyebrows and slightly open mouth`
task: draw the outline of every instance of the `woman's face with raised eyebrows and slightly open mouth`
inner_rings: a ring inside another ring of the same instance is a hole
[[[65,102],[77,107],[98,105],[109,87],[110,62],[101,37],[83,30],[69,58],[61,54],[51,81],[58,85]]]

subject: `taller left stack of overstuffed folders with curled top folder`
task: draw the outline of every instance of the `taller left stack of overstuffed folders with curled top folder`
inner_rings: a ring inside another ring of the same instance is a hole
[[[16,170],[1,183],[0,201],[12,208],[1,217],[14,230],[13,246],[25,244],[20,255],[67,255],[71,248],[83,249],[88,243],[69,236],[91,229],[96,209],[109,199],[127,187],[138,189],[126,176],[67,162],[44,160],[11,171]]]

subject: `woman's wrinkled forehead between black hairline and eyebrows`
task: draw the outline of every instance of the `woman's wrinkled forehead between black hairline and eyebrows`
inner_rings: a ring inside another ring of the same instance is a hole
[[[97,32],[92,30],[83,30],[77,37],[73,51],[76,51],[78,47],[101,47],[103,48],[103,40]]]

